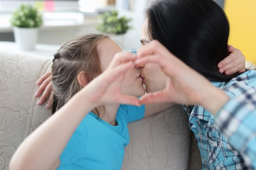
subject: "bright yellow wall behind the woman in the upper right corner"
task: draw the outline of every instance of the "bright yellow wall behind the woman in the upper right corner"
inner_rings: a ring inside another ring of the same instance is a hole
[[[230,24],[229,44],[256,63],[256,0],[225,0]]]

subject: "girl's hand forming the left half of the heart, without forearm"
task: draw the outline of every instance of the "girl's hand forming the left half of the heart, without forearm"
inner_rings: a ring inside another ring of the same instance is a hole
[[[94,78],[80,91],[93,105],[124,103],[139,106],[138,98],[121,93],[121,83],[126,71],[134,65],[136,55],[130,52],[118,52],[108,68]],[[79,92],[79,93],[80,93]]]

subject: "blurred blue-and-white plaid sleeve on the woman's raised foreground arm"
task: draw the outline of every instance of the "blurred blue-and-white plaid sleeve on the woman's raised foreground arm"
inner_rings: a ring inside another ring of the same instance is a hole
[[[256,106],[244,96],[232,98],[219,111],[214,126],[256,168]]]

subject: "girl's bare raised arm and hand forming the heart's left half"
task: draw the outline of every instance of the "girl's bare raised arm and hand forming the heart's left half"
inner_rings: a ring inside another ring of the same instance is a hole
[[[130,60],[134,59],[135,56],[130,56]],[[94,107],[111,103],[139,105],[137,98],[121,94],[120,85],[124,74],[133,65],[133,61],[126,61],[113,59],[106,71],[83,87],[32,132],[13,154],[9,163],[10,170],[56,168],[76,127]]]

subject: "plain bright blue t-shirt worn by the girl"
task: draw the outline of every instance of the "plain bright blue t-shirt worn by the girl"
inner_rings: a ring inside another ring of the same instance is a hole
[[[63,150],[58,170],[120,170],[130,140],[127,124],[142,119],[144,113],[144,105],[120,105],[117,126],[88,113]]]

